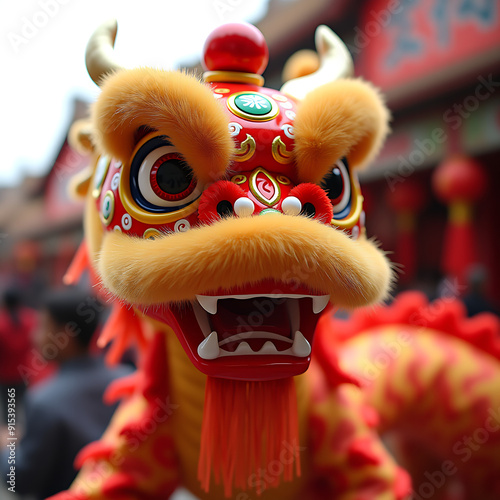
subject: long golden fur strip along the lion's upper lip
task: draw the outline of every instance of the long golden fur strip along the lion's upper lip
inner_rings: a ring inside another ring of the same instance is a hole
[[[372,242],[286,215],[228,218],[154,241],[107,233],[98,269],[106,288],[137,305],[274,279],[299,280],[351,308],[383,299],[391,281]]]

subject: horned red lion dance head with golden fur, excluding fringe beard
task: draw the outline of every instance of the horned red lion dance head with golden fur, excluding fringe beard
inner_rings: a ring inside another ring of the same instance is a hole
[[[77,134],[95,158],[77,183],[92,267],[209,379],[291,380],[328,304],[372,304],[390,288],[357,179],[388,112],[325,26],[319,67],[279,91],[264,87],[268,49],[253,26],[209,36],[201,80],[121,67],[116,29],[89,42],[101,94]]]

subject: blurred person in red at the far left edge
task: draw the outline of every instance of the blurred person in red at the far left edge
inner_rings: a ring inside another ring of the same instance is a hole
[[[3,425],[7,424],[6,401],[8,392],[14,389],[16,404],[22,403],[26,389],[19,367],[29,363],[32,337],[37,317],[34,310],[22,304],[21,291],[11,286],[3,294],[3,308],[0,311],[0,391]]]

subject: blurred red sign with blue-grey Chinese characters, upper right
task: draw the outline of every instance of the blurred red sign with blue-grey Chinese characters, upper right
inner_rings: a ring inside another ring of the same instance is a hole
[[[391,98],[443,86],[500,61],[497,0],[366,2],[351,52]]]

